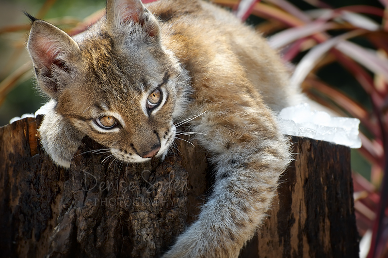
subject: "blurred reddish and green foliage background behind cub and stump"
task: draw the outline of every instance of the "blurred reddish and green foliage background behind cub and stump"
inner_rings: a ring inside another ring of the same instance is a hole
[[[71,33],[95,19],[105,0],[0,1],[2,126],[13,117],[34,113],[47,100],[34,87],[25,49],[30,25],[22,11]],[[239,2],[212,1],[233,10]],[[291,71],[307,70],[295,79],[307,95],[340,116],[361,120],[363,146],[351,152],[357,227],[360,236],[369,236],[361,257],[366,257],[371,243],[374,247],[368,257],[388,257],[388,175],[384,172],[388,152],[388,0],[246,2],[251,2],[252,8],[242,19],[247,18],[248,24],[270,38]],[[334,49],[344,39],[353,45]]]

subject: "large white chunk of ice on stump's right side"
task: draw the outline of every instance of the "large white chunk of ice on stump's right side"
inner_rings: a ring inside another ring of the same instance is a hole
[[[330,117],[322,111],[311,111],[305,103],[283,108],[278,115],[278,124],[283,134],[309,137],[360,148],[356,118]]]

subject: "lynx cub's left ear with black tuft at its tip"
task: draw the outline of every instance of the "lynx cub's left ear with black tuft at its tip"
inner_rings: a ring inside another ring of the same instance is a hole
[[[70,81],[70,73],[81,58],[77,43],[64,31],[42,20],[32,22],[27,44],[39,86],[56,99]]]

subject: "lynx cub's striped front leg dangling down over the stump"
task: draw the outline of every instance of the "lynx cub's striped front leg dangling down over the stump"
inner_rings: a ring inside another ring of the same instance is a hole
[[[165,258],[237,258],[262,223],[277,180],[290,161],[287,139],[265,107],[211,108],[194,125],[215,165],[213,192],[198,220],[178,237]]]

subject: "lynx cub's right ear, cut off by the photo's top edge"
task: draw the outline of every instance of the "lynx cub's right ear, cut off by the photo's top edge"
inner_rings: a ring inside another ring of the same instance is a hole
[[[139,25],[147,36],[159,35],[159,24],[141,0],[107,0],[107,26],[110,34],[133,33]]]

